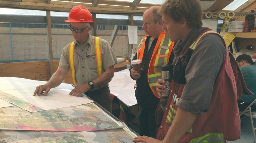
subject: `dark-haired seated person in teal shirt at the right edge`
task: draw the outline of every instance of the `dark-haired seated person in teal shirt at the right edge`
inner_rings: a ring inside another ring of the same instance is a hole
[[[242,95],[238,100],[238,108],[243,111],[252,101],[256,99],[256,66],[253,64],[251,56],[243,54],[236,59],[246,83],[247,88],[254,93],[253,95]],[[256,111],[256,104],[251,106],[251,111]]]

